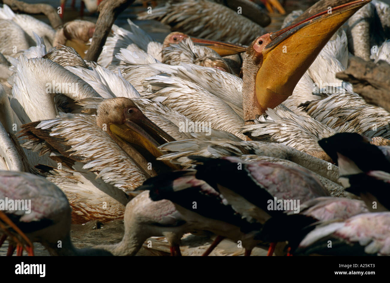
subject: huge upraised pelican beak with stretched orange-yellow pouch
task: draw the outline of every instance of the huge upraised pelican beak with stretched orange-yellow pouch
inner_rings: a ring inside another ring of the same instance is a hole
[[[338,6],[328,4],[339,0],[328,1],[324,11],[252,42],[252,48],[263,43],[263,46],[257,47],[261,67],[255,78],[261,111],[275,108],[293,94],[296,84],[332,35],[370,1],[350,1]]]

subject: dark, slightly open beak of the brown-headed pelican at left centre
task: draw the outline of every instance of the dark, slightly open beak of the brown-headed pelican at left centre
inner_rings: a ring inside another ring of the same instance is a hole
[[[110,124],[110,130],[122,140],[149,151],[156,158],[163,155],[158,149],[160,145],[174,141],[141,111],[135,119],[126,119],[124,124]]]

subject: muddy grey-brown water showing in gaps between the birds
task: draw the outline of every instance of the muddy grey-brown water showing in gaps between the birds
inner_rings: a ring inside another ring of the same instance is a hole
[[[51,4],[54,7],[58,7],[60,3],[59,0],[24,0],[24,1],[31,4],[35,4],[38,2]],[[160,1],[160,3],[161,2],[162,1]],[[308,1],[285,0],[281,2],[284,5],[287,13],[289,13],[293,10],[298,10],[298,9],[305,10],[307,9],[307,7],[309,7],[316,1],[315,0],[308,0]],[[80,1],[79,0],[76,1],[77,11],[72,11],[70,5],[71,5],[71,0],[68,0],[66,10],[64,12],[65,21],[80,19],[79,12],[78,12],[80,11]],[[138,21],[136,18],[137,17],[136,14],[142,11],[145,11],[145,8],[142,7],[141,4],[135,3],[119,15],[119,17],[115,21],[115,24],[123,28],[128,28],[129,25],[127,23],[127,19],[130,18],[135,24],[137,24],[143,30],[149,33],[155,40],[162,42],[165,36],[170,32],[169,27],[167,25],[161,24],[158,21]],[[44,15],[35,15],[35,17],[40,19],[41,21],[50,24],[48,19]],[[268,31],[279,29],[284,19],[284,16],[273,14],[271,15],[271,18],[272,18],[272,22],[266,29]],[[90,14],[89,12],[85,11],[85,16],[83,19],[96,22],[97,14]],[[110,223],[106,223],[105,225],[103,225],[103,228],[100,229],[93,229],[91,225],[73,225],[71,237],[72,237],[73,244],[74,246],[76,246],[76,248],[87,248],[97,244],[117,243],[121,241],[123,233],[124,233],[123,221],[113,221]],[[229,244],[230,244],[229,242],[226,243],[226,245]],[[41,255],[41,256],[49,255],[48,252],[44,249],[44,247],[41,244],[34,243],[34,247],[35,247],[36,255]],[[4,243],[3,247],[0,249],[0,255],[5,255],[6,252],[7,252],[7,243]],[[141,249],[137,255],[150,255],[150,253],[148,253],[146,249]]]

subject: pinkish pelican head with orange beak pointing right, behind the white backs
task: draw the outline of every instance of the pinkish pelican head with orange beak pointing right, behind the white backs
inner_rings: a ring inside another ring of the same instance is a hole
[[[183,34],[183,32],[171,32],[167,35],[167,37],[165,37],[163,42],[163,48],[168,47],[170,44],[177,44],[187,37],[188,35]],[[220,56],[234,55],[246,51],[246,46],[241,46],[238,44],[209,39],[201,39],[197,37],[191,37],[191,40],[197,45],[202,45],[211,48]]]

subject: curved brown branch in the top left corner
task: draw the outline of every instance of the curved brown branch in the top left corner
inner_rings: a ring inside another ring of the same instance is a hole
[[[53,28],[58,28],[62,25],[60,15],[57,13],[57,9],[49,4],[27,4],[18,0],[2,0],[4,4],[7,4],[13,11],[19,11],[26,14],[45,14],[50,21],[50,25]]]

